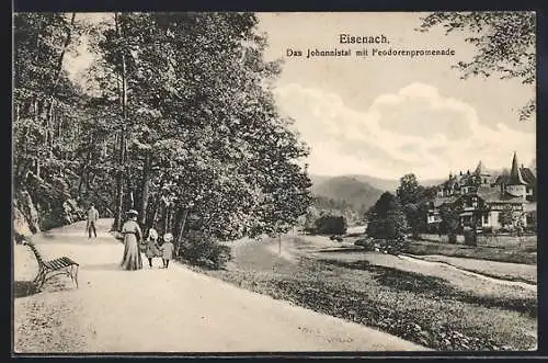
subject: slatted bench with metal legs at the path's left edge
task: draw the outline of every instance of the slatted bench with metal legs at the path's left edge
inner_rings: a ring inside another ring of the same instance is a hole
[[[38,261],[38,274],[34,279],[34,283],[38,291],[42,290],[42,286],[49,279],[57,275],[67,275],[75,283],[78,288],[78,268],[80,266],[77,262],[72,261],[68,257],[60,257],[55,260],[44,261],[42,256],[39,254],[36,246],[27,239],[23,240],[23,245],[27,246],[36,257],[36,261]]]

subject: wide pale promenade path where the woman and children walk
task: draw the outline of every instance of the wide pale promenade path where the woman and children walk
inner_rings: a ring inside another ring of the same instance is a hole
[[[104,232],[83,235],[82,223],[34,239],[46,258],[80,262],[70,279],[14,300],[16,352],[276,352],[375,351],[424,348],[286,302],[254,294],[174,263],[118,270],[123,245]],[[33,274],[33,260],[15,247],[15,281]]]

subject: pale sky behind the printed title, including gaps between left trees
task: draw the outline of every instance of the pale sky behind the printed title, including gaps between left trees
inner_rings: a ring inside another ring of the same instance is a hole
[[[279,112],[310,147],[313,174],[368,174],[398,179],[413,172],[437,179],[487,168],[510,168],[535,158],[533,121],[518,110],[535,89],[518,80],[463,80],[452,68],[468,61],[475,47],[466,33],[442,29],[420,33],[425,13],[259,13],[258,31],[267,35],[266,60],[283,59],[274,86]],[[83,15],[80,15],[83,16]],[[340,44],[340,34],[381,36],[386,44]],[[307,49],[351,49],[349,57],[306,58]],[[369,56],[355,50],[368,48]],[[453,56],[370,56],[377,49],[454,49]],[[288,57],[287,49],[301,50]],[[92,55],[68,58],[79,73]]]

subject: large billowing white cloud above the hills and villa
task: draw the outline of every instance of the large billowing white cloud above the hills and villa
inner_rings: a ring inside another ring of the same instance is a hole
[[[443,178],[480,159],[488,168],[510,167],[514,150],[524,163],[535,157],[534,134],[484,126],[472,106],[424,83],[381,94],[365,112],[338,94],[297,83],[275,92],[281,111],[295,118],[311,147],[312,173]]]

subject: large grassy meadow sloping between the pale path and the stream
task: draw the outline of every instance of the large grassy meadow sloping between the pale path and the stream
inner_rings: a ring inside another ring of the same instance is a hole
[[[227,270],[201,271],[432,349],[536,348],[536,296],[512,290],[504,296],[478,294],[444,279],[368,260],[324,256],[292,261],[258,246],[239,249]]]

